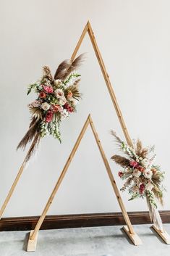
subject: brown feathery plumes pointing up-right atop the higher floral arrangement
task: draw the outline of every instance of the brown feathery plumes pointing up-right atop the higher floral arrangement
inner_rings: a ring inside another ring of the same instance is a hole
[[[56,70],[54,79],[64,80],[67,76],[72,73],[72,71],[77,70],[78,67],[82,64],[84,54],[81,54],[74,61],[72,59],[66,59],[64,62],[61,62],[59,67]]]

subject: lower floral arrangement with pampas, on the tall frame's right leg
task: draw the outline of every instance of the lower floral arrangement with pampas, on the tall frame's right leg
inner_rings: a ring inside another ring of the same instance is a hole
[[[111,160],[120,165],[119,177],[124,180],[122,191],[129,191],[130,199],[146,198],[150,212],[150,220],[162,229],[162,222],[157,210],[157,202],[163,205],[163,178],[164,173],[160,166],[154,164],[156,154],[154,146],[143,147],[142,142],[137,139],[133,146],[122,141],[114,131],[111,134],[116,139],[119,149],[126,157],[114,154]]]

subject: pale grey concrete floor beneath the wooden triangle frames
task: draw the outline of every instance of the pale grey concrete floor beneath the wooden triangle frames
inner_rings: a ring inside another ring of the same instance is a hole
[[[170,224],[164,225],[170,234]],[[36,252],[26,252],[28,232],[0,233],[0,256],[170,256],[170,244],[150,229],[134,226],[143,240],[135,247],[120,226],[39,231]]]

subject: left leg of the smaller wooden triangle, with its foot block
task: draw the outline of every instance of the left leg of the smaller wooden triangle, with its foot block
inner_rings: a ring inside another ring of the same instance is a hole
[[[35,246],[34,245],[36,244],[38,231],[41,228],[43,220],[46,217],[46,214],[48,212],[48,209],[49,209],[50,205],[53,202],[53,199],[54,199],[54,197],[56,195],[56,192],[59,189],[61,181],[63,180],[65,174],[67,173],[67,170],[69,168],[69,164],[72,161],[72,158],[74,157],[75,152],[77,151],[77,148],[78,148],[78,146],[80,144],[80,141],[82,140],[82,136],[85,134],[85,131],[88,128],[88,125],[89,125],[89,117],[85,121],[85,125],[83,126],[82,131],[80,132],[80,136],[78,137],[78,139],[77,139],[77,141],[75,143],[75,146],[73,147],[72,152],[69,155],[69,158],[68,158],[66,164],[64,165],[64,169],[62,170],[61,175],[59,176],[59,180],[57,181],[56,186],[54,187],[54,190],[52,191],[51,196],[48,199],[46,207],[44,208],[43,213],[41,214],[41,217],[39,218],[38,223],[35,226],[34,231],[32,231],[31,234],[30,234],[30,239],[28,240],[28,244],[27,244],[27,252],[35,251]]]

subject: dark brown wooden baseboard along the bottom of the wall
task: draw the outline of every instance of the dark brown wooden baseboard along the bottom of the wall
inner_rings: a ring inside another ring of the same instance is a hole
[[[128,212],[132,224],[149,224],[148,212]],[[163,223],[170,223],[170,211],[160,211]],[[0,231],[23,231],[35,228],[40,216],[1,218]],[[123,226],[122,212],[48,215],[41,229],[80,228],[93,226]]]

